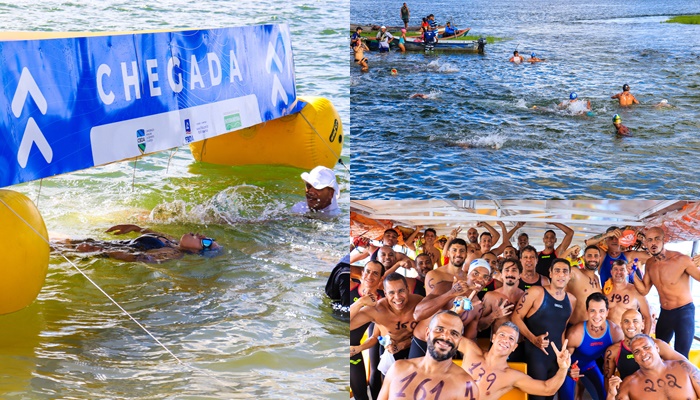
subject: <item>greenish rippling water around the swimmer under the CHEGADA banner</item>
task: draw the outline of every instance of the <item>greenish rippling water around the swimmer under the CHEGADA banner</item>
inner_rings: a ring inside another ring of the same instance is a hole
[[[329,98],[347,124],[348,9],[347,0],[21,0],[0,3],[0,22],[50,31],[285,22],[298,95]],[[51,234],[111,239],[109,226],[136,223],[223,244],[219,257],[161,265],[73,258],[186,365],[52,255],[38,299],[0,316],[0,398],[347,398],[347,323],[331,317],[323,287],[347,251],[348,171],[335,168],[344,215],[319,221],[288,213],[304,199],[301,169],[196,163],[186,147],[170,156],[12,189],[37,202]]]

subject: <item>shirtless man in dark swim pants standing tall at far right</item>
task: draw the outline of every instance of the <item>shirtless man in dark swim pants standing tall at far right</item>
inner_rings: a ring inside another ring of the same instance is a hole
[[[656,337],[668,343],[675,335],[674,348],[687,358],[695,332],[695,304],[690,292],[690,278],[700,281],[700,268],[690,257],[664,248],[663,229],[649,229],[646,238],[652,257],[647,261],[641,281],[634,274],[634,287],[646,296],[652,285],[656,286],[661,302]]]

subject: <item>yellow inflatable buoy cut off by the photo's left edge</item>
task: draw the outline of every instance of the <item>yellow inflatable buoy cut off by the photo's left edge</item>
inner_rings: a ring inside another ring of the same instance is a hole
[[[49,266],[46,240],[46,225],[34,203],[21,193],[0,189],[0,314],[21,310],[36,299]]]

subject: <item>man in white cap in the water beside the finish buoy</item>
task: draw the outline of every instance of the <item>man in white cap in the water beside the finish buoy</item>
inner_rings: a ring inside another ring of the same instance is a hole
[[[308,214],[319,217],[340,215],[336,199],[340,197],[338,182],[332,169],[318,166],[301,174],[306,184],[306,201],[292,207],[295,214]]]

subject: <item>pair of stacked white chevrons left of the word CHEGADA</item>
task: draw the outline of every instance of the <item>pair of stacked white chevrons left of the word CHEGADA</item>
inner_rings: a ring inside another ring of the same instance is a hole
[[[22,74],[19,77],[19,83],[17,84],[17,90],[15,95],[12,97],[12,113],[16,118],[22,114],[22,109],[24,109],[24,104],[27,101],[27,96],[31,96],[34,99],[39,111],[46,115],[46,110],[48,109],[48,103],[44,94],[39,90],[39,85],[36,84],[34,77],[25,67],[22,69]],[[46,162],[50,163],[53,159],[53,149],[46,140],[44,133],[39,129],[39,125],[36,124],[34,118],[29,117],[27,121],[27,126],[24,128],[24,135],[22,136],[22,141],[19,144],[19,149],[17,150],[17,162],[22,168],[27,167],[27,161],[29,160],[29,152],[32,150],[32,144],[36,143],[36,147],[44,156]]]

